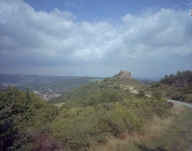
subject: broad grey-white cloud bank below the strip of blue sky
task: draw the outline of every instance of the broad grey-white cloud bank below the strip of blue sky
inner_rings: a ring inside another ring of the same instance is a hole
[[[192,20],[187,11],[151,8],[140,16],[127,14],[114,25],[78,22],[71,12],[58,9],[36,12],[21,0],[4,0],[2,7],[1,72],[38,66],[38,72],[41,67],[48,74],[47,66],[53,66],[55,74],[63,67],[99,76],[102,66],[103,76],[112,76],[117,69],[134,71],[136,76],[141,71],[149,76],[153,70],[163,76],[169,66],[170,72],[192,69]]]

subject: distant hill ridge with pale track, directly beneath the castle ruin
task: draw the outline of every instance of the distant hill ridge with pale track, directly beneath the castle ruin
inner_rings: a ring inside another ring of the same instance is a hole
[[[103,81],[97,81],[85,86],[79,87],[67,94],[50,100],[51,103],[67,102],[73,100],[86,100],[87,96],[101,92],[126,93],[130,89],[141,88],[144,85],[131,77],[126,71],[120,71],[119,74],[105,78]]]

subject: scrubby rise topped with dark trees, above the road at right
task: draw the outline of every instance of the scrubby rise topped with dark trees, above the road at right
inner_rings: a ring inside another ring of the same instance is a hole
[[[192,102],[192,71],[178,71],[165,75],[159,82],[145,88],[147,94],[158,91],[166,98]]]

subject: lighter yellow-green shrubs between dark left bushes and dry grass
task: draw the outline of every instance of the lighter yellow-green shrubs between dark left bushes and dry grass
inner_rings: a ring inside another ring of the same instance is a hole
[[[66,150],[86,150],[92,145],[105,143],[109,135],[121,137],[124,132],[142,133],[143,125],[154,115],[163,118],[172,107],[164,100],[134,97],[119,100],[116,94],[113,95],[117,100],[108,100],[108,95],[108,103],[89,106],[92,104],[90,100],[87,105],[61,107],[60,115],[52,124],[54,137],[60,139]]]

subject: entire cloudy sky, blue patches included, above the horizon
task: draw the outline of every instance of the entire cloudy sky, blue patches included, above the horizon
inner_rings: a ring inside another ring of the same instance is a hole
[[[0,73],[192,70],[191,0],[0,0]]]

